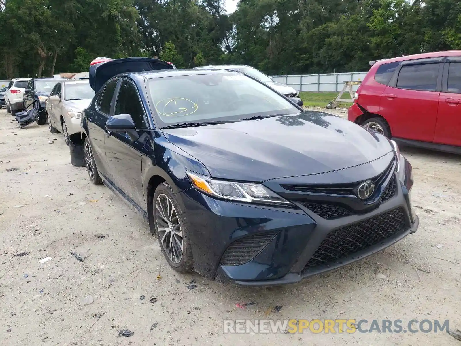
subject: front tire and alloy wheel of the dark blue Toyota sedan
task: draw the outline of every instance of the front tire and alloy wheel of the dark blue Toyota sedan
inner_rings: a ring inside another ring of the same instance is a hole
[[[189,231],[183,211],[168,183],[160,184],[153,198],[155,233],[163,255],[171,268],[180,273],[194,270]]]

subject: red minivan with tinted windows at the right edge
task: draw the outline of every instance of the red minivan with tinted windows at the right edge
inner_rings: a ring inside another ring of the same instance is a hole
[[[461,154],[461,50],[370,65],[350,121],[402,143]]]

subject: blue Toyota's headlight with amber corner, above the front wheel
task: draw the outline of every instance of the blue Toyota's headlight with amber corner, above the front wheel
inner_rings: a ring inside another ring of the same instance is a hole
[[[186,173],[197,190],[213,197],[239,202],[292,206],[290,202],[261,184],[217,180],[189,171]]]

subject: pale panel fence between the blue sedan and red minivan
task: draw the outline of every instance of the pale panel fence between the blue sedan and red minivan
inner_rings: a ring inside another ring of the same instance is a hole
[[[340,92],[344,83],[349,81],[362,81],[367,72],[344,72],[325,74],[303,74],[290,76],[271,76],[274,82],[286,84],[297,91],[313,92]],[[354,91],[359,86],[354,85]]]

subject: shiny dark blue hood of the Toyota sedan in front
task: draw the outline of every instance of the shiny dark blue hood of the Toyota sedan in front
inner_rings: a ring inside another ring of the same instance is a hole
[[[212,177],[243,181],[335,171],[392,151],[386,137],[314,111],[162,131],[205,165]]]

